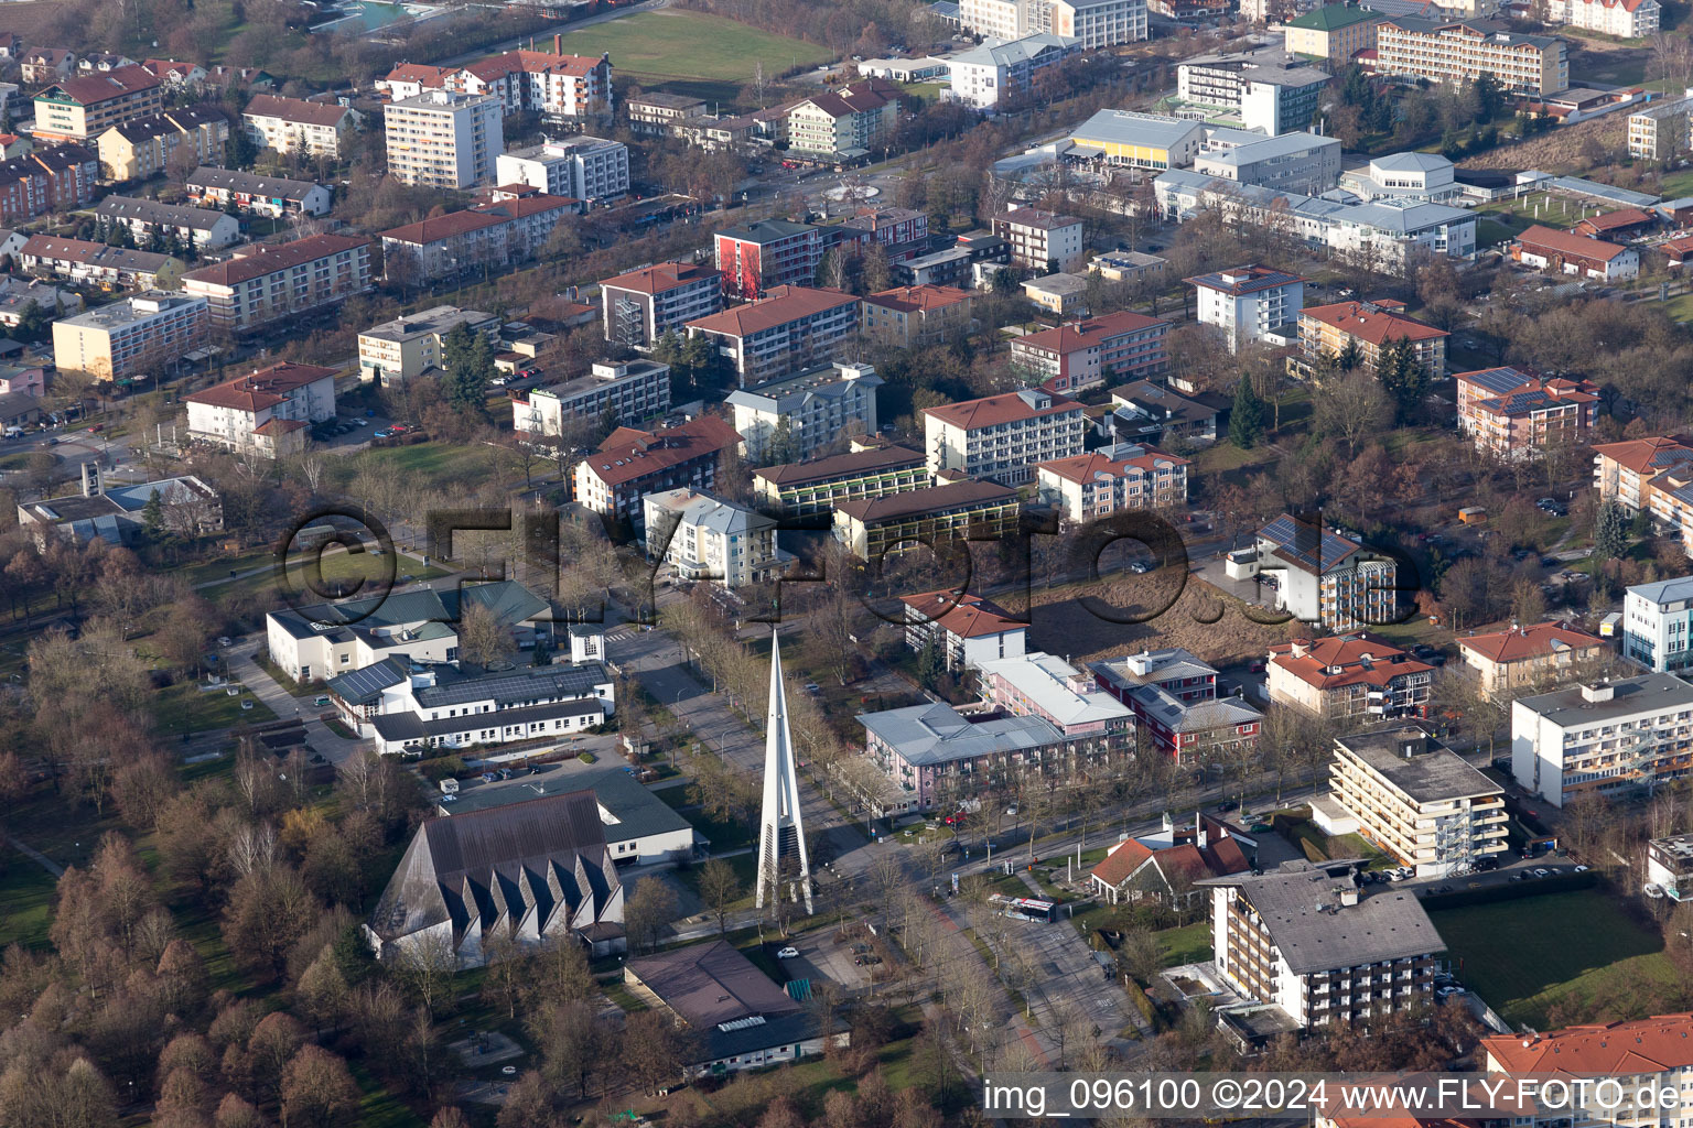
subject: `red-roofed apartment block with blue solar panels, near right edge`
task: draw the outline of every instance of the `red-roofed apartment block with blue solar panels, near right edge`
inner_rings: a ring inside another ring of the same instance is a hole
[[[1517,462],[1585,446],[1598,419],[1598,384],[1512,367],[1459,372],[1458,430],[1476,450]]]

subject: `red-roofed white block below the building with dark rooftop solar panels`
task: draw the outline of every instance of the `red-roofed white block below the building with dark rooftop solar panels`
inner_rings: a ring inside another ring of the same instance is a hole
[[[1334,634],[1271,646],[1266,683],[1277,705],[1368,724],[1427,717],[1434,666],[1370,632]]]

